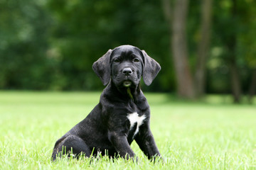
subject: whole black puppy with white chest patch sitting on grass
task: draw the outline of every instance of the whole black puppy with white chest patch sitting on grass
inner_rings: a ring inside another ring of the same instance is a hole
[[[161,157],[149,128],[149,104],[139,87],[141,77],[151,84],[160,65],[144,50],[122,45],[108,50],[92,69],[107,87],[90,114],[55,143],[53,161],[71,150],[76,156],[100,152],[129,159],[135,156],[133,140],[149,159]]]

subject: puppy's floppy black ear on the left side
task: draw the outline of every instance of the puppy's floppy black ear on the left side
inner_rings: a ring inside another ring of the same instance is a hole
[[[96,62],[92,64],[93,71],[100,77],[102,84],[106,86],[110,81],[110,55],[112,50],[108,50],[105,55],[99,58]]]

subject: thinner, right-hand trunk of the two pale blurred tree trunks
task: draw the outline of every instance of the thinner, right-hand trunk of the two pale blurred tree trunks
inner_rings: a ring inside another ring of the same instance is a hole
[[[212,14],[212,0],[203,0],[201,6],[201,39],[198,43],[196,59],[195,90],[196,96],[205,94],[206,59],[210,45],[210,26]]]

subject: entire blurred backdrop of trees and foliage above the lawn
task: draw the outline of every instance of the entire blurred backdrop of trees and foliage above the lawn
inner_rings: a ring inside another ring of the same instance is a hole
[[[255,0],[0,0],[0,89],[101,91],[92,63],[129,44],[162,67],[144,91],[252,102],[255,13]]]

